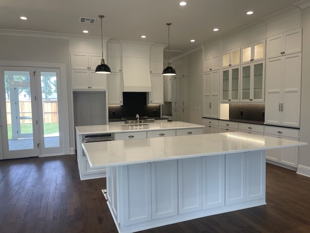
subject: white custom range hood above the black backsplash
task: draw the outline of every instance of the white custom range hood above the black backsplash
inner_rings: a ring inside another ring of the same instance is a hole
[[[150,47],[152,43],[120,41],[122,45],[123,91],[151,92]]]

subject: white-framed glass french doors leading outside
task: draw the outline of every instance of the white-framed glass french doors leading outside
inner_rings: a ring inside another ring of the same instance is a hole
[[[57,154],[59,133],[57,68],[0,67],[3,158]]]

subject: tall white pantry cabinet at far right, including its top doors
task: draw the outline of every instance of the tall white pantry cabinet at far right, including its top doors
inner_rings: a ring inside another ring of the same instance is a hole
[[[288,35],[291,36],[289,39]],[[279,51],[275,52],[275,48],[279,48]],[[287,48],[290,48],[289,52],[286,51]],[[299,48],[301,48],[301,29],[267,38],[266,124],[299,127],[301,88]]]

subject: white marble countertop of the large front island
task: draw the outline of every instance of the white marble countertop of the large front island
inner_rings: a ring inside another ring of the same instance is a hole
[[[212,133],[83,143],[92,168],[191,157],[304,146],[298,142],[251,133]]]

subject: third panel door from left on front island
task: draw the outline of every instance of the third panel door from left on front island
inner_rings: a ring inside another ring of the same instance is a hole
[[[202,209],[202,158],[178,160],[179,214]]]

